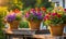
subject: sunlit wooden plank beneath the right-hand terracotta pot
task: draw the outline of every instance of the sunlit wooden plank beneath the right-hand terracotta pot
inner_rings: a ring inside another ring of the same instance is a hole
[[[33,37],[40,39],[64,39],[65,36],[33,35]]]

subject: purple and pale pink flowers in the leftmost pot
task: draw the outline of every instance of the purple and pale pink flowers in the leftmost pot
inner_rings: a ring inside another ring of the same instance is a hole
[[[7,22],[21,21],[21,15],[19,13],[12,13],[7,15]]]

